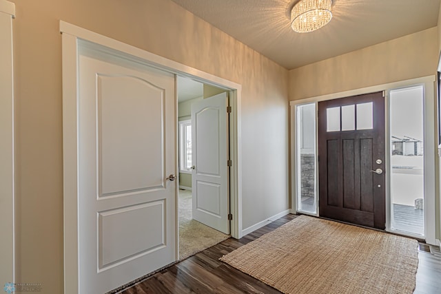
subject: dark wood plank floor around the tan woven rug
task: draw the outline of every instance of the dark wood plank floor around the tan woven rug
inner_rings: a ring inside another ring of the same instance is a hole
[[[123,294],[175,294],[175,293],[280,293],[245,273],[220,262],[218,258],[240,246],[256,240],[261,235],[293,220],[290,214],[246,235],[240,240],[229,238],[187,260],[170,266],[121,292]],[[429,250],[429,246],[421,246]],[[415,294],[441,293],[441,253],[431,247],[431,252],[418,251],[419,265]]]

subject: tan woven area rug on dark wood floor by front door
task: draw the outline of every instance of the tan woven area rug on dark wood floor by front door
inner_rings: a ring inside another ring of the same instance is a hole
[[[418,242],[299,216],[220,258],[283,293],[412,293]]]

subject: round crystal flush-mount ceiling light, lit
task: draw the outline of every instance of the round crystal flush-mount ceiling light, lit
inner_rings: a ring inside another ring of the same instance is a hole
[[[291,9],[294,32],[312,32],[329,23],[332,0],[300,0]]]

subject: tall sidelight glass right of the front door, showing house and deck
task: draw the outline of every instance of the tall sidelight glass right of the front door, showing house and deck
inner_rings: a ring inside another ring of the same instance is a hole
[[[423,87],[390,92],[391,229],[424,236]]]

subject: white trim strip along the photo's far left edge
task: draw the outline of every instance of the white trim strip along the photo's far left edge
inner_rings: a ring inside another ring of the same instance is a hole
[[[14,283],[14,72],[15,4],[0,0],[0,283]]]

